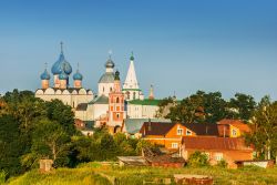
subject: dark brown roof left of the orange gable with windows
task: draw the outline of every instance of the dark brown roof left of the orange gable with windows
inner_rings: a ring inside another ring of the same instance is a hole
[[[174,125],[172,122],[144,122],[141,133],[144,135],[165,135]]]

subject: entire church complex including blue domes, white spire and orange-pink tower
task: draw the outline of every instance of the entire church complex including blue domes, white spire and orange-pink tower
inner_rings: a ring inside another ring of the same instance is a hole
[[[126,119],[154,119],[160,101],[154,99],[153,86],[148,99],[144,99],[136,79],[133,53],[123,84],[120,72],[114,71],[111,55],[104,66],[105,71],[98,82],[98,93],[82,86],[83,75],[79,65],[72,75],[73,86],[70,86],[72,66],[64,56],[61,43],[59,59],[51,68],[52,74],[45,66],[40,75],[41,89],[35,91],[35,96],[44,101],[58,99],[70,105],[80,127],[106,126],[114,133]]]

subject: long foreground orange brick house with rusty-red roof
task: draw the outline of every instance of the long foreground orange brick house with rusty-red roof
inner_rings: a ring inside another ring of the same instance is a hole
[[[225,160],[230,168],[237,167],[235,164],[236,161],[253,160],[254,152],[252,147],[245,145],[243,138],[184,136],[182,141],[182,156],[188,160],[189,155],[196,151],[205,153],[208,156],[211,165]]]

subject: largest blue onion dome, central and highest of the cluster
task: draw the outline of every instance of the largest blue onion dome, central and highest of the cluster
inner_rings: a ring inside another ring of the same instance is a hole
[[[64,68],[64,72],[70,75],[72,73],[72,66],[65,60],[63,52],[61,52],[59,60],[53,64],[51,71],[55,74],[61,74]]]

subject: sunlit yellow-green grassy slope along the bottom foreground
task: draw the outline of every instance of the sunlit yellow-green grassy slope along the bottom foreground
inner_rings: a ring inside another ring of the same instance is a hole
[[[277,184],[277,167],[264,169],[247,167],[243,169],[222,169],[216,167],[204,168],[160,168],[160,167],[119,167],[104,166],[99,163],[89,163],[78,168],[59,168],[49,174],[38,171],[29,172],[8,182],[10,185],[105,185],[115,181],[115,184],[141,185],[143,179],[152,181],[155,177],[173,177],[173,174],[199,174],[213,176],[215,184],[225,185],[263,185]]]

